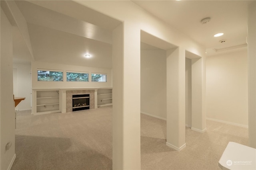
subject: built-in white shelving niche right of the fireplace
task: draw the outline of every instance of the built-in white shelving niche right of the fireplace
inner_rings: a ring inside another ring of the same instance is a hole
[[[98,89],[98,107],[112,105],[112,89]]]

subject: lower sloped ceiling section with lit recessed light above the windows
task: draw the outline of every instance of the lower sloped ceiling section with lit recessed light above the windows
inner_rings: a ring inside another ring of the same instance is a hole
[[[112,45],[48,27],[28,24],[36,61],[112,68]],[[91,58],[86,59],[85,54]]]

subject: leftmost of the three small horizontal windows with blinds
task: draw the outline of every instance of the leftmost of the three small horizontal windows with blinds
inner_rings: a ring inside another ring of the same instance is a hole
[[[37,70],[37,81],[63,82],[63,71]]]

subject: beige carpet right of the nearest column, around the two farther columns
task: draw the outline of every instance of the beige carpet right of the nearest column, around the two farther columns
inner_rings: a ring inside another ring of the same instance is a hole
[[[186,127],[180,152],[166,143],[166,121],[141,115],[141,167],[145,170],[220,170],[218,161],[229,141],[248,145],[248,128],[206,121],[204,133]]]

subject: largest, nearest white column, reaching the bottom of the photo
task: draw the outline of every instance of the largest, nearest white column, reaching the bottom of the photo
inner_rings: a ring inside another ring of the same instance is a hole
[[[113,31],[113,169],[140,169],[140,29]]]

